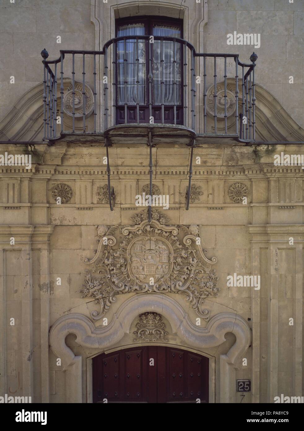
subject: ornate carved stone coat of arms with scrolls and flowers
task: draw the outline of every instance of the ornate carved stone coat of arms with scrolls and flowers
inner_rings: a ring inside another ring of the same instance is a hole
[[[95,298],[100,311],[91,312],[100,319],[116,296],[125,293],[183,294],[192,309],[208,320],[203,309],[206,297],[220,290],[206,250],[202,250],[199,227],[167,226],[156,220],[144,220],[135,226],[97,228],[99,245],[93,259],[85,259],[87,271],[82,297]],[[119,240],[118,240],[119,238]]]

